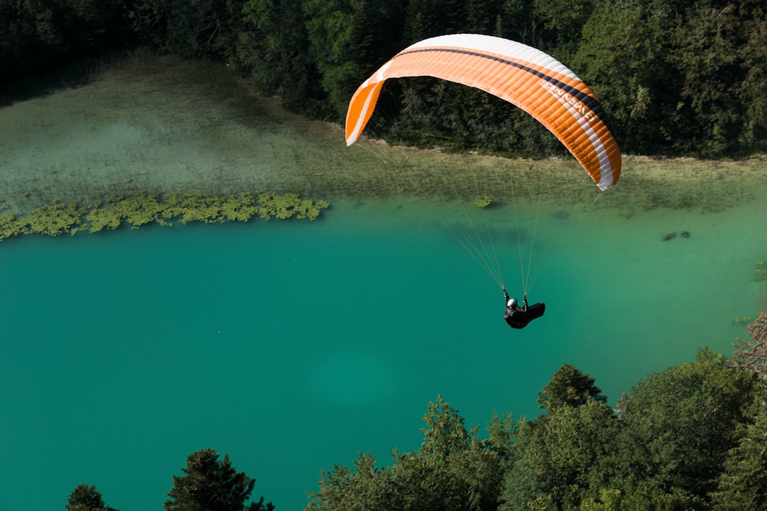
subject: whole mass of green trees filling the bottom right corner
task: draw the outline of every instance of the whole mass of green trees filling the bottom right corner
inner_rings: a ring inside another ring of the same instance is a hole
[[[613,410],[594,379],[562,365],[540,394],[548,413],[493,415],[480,440],[439,396],[417,451],[390,467],[360,454],[323,472],[310,511],[761,509],[767,388],[703,349],[653,373]]]

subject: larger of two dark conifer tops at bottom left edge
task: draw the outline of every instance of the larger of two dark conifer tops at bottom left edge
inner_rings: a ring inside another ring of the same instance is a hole
[[[183,476],[173,476],[173,488],[163,504],[166,511],[272,511],[272,503],[245,506],[255,485],[255,479],[237,472],[229,454],[219,461],[213,449],[198,450],[186,458]]]

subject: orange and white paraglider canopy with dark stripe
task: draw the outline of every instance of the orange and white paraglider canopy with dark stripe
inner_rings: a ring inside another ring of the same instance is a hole
[[[430,76],[485,90],[525,110],[568,148],[599,188],[621,175],[621,150],[586,84],[551,55],[508,39],[442,35],[405,48],[357,88],[346,116],[351,146],[389,78]]]

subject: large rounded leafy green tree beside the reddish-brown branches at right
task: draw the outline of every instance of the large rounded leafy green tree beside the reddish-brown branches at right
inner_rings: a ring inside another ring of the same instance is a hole
[[[643,481],[664,499],[706,506],[754,385],[752,375],[706,349],[636,385],[619,405],[618,449],[630,460],[620,464],[624,488]]]

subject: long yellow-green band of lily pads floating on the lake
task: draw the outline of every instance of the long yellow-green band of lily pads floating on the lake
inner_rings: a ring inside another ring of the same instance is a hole
[[[330,205],[327,201],[311,201],[296,194],[275,195],[271,192],[238,195],[169,194],[135,196],[118,195],[106,201],[81,206],[76,202],[44,205],[29,215],[12,212],[0,214],[0,241],[19,234],[76,234],[117,229],[123,222],[137,229],[154,222],[170,226],[174,220],[186,224],[224,221],[249,221],[254,215],[271,218],[318,218]]]

